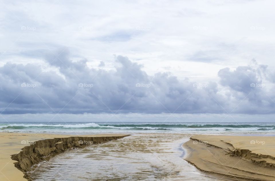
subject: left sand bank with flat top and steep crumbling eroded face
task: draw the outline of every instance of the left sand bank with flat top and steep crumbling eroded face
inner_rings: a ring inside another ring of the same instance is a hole
[[[83,147],[87,144],[97,144],[108,140],[123,138],[125,134],[97,135],[57,135],[57,134],[25,134],[0,133],[0,180],[21,181],[22,171],[28,171],[31,164],[41,161],[43,156],[63,152],[68,148]],[[39,141],[41,140],[41,141]],[[29,143],[36,142],[35,145]],[[83,143],[82,143],[83,142]],[[23,148],[23,151],[21,150]],[[18,154],[18,155],[17,155]],[[13,155],[13,159],[11,159]],[[19,163],[16,163],[16,161]],[[15,164],[14,164],[15,163]],[[15,166],[17,166],[17,169]]]

